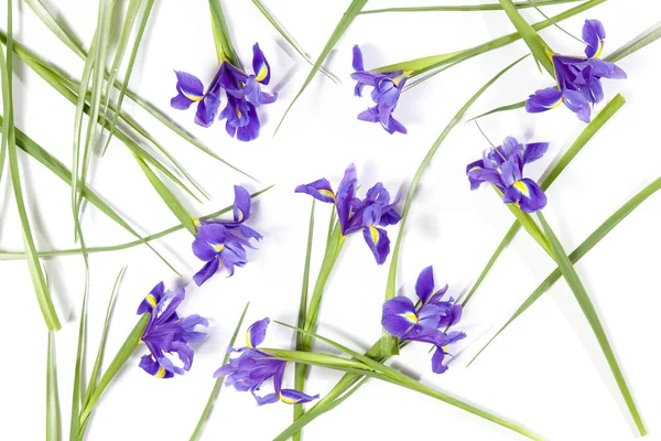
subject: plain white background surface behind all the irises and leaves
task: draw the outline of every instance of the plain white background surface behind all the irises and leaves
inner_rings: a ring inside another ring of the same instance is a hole
[[[2,11],[6,2],[2,2]],[[87,46],[96,22],[95,1],[46,2]],[[447,2],[454,4],[453,2]],[[455,2],[455,3],[458,3]],[[581,34],[583,20],[599,19],[607,32],[607,55],[639,35],[661,17],[657,1],[609,1],[562,22]],[[266,1],[274,17],[313,56],[342,17],[348,1]],[[424,4],[421,2],[420,4]],[[402,6],[370,1],[369,7]],[[546,8],[557,13],[567,7]],[[296,184],[327,176],[337,184],[345,166],[355,162],[362,189],[377,181],[395,193],[407,189],[418,164],[447,121],[484,83],[527,52],[524,43],[473,58],[405,93],[395,117],[409,135],[389,136],[378,125],[356,120],[369,98],[353,96],[351,46],[364,49],[366,67],[413,57],[454,52],[512,32],[502,12],[375,14],[358,18],[328,58],[326,66],[339,79],[334,85],[317,75],[294,106],[281,130],[277,121],[297,92],[308,65],[294,54],[249,1],[226,1],[225,9],[237,51],[250,65],[258,41],[272,67],[278,103],[260,110],[263,121],[258,141],[245,144],[230,139],[224,122],[209,129],[193,123],[194,110],[170,108],[174,95],[173,69],[191,72],[208,83],[217,68],[207,2],[156,2],[141,47],[131,88],[207,146],[260,183],[228,170],[182,141],[128,101],[134,115],[191,171],[213,195],[201,206],[203,215],[232,202],[232,185],[258,190],[277,186],[259,197],[250,225],[264,235],[250,262],[235,277],[217,275],[203,288],[191,283],[201,262],[191,252],[191,236],[178,232],[156,244],[186,278],[177,280],[147,247],[90,256],[88,369],[98,344],[106,301],[119,269],[128,265],[108,337],[107,362],[133,326],[138,303],[159,281],[186,286],[184,313],[212,319],[209,336],[195,354],[193,369],[183,377],[159,380],[138,366],[141,353],[117,377],[101,398],[88,429],[90,440],[118,438],[184,440],[204,407],[231,331],[246,301],[251,308],[247,324],[263,316],[294,323],[301,289],[311,198],[294,194]],[[15,37],[42,56],[79,76],[83,63],[61,44],[24,3],[17,7]],[[523,12],[539,21],[533,10]],[[1,20],[6,22],[4,12]],[[583,46],[557,29],[542,35],[557,52],[581,54]],[[585,147],[548,192],[544,213],[567,251],[583,241],[606,217],[653,179],[661,163],[659,144],[659,43],[621,61],[626,80],[604,80],[606,100],[616,93],[625,107]],[[74,106],[21,63],[14,72],[15,122],[50,152],[71,165]],[[469,109],[475,116],[518,101],[537,88],[551,85],[528,58],[491,87]],[[606,101],[605,100],[605,101]],[[602,106],[598,106],[598,110]],[[596,114],[596,111],[595,111]],[[543,115],[522,109],[485,118],[481,123],[494,140],[513,135],[522,141],[550,141],[549,154],[527,169],[538,178],[585,127],[566,108]],[[413,294],[419,271],[433,265],[438,282],[462,295],[479,275],[512,217],[487,189],[470,192],[466,163],[479,158],[488,144],[475,125],[459,123],[446,139],[423,176],[411,209],[401,254],[398,289]],[[22,179],[39,249],[74,247],[69,189],[33,160],[21,157]],[[7,169],[0,182],[0,244],[3,250],[22,249],[20,224]],[[123,144],[113,141],[105,158],[95,161],[93,187],[143,233],[176,224]],[[321,204],[319,204],[321,205]],[[657,439],[661,432],[661,377],[658,282],[661,232],[661,195],[653,195],[607,236],[578,265],[577,270],[596,304],[644,421]],[[322,237],[328,207],[321,206],[313,259],[313,276],[323,255]],[[131,236],[88,207],[84,215],[88,245],[112,245]],[[389,229],[391,238],[397,228]],[[361,237],[347,240],[328,283],[319,332],[357,349],[380,335],[380,311],[388,265],[378,267]],[[63,427],[68,428],[72,377],[82,302],[84,267],[80,257],[45,261],[53,295],[63,320],[56,334]],[[468,337],[454,348],[449,370],[436,376],[425,345],[413,344],[397,365],[441,388],[500,416],[520,422],[552,440],[631,440],[635,429],[606,363],[573,294],[561,280],[502,334],[469,368],[467,362],[553,269],[550,259],[520,234],[498,261],[458,329]],[[37,440],[44,435],[45,364],[47,333],[36,305],[24,261],[3,261],[3,316],[0,321],[3,359],[0,363],[2,417],[0,439]],[[266,345],[291,347],[292,333],[272,325]],[[319,349],[327,349],[318,347]],[[324,395],[339,373],[313,369],[308,392]],[[292,384],[293,372],[286,383]],[[205,427],[203,439],[268,440],[291,421],[291,407],[277,404],[258,408],[249,394],[225,389]],[[359,392],[305,429],[307,440],[448,439],[510,440],[513,432],[451,406],[392,385],[369,381]]]

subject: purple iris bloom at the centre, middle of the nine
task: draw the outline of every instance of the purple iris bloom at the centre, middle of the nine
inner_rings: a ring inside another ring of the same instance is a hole
[[[310,194],[318,201],[335,204],[343,236],[361,230],[377,263],[381,265],[390,254],[390,239],[386,229],[381,227],[400,222],[401,216],[394,211],[399,195],[391,203],[388,190],[378,182],[367,191],[366,197],[360,200],[356,197],[357,183],[356,166],[349,164],[337,187],[337,193],[333,192],[327,179],[299,185],[295,192]]]

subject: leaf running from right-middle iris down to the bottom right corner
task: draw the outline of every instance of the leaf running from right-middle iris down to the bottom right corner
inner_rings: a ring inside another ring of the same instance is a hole
[[[544,215],[541,212],[538,212],[538,218],[540,219],[540,223],[544,228],[544,233],[546,234],[546,237],[549,238],[549,241],[553,247],[553,251],[555,252],[555,256],[557,258],[559,268],[562,272],[562,276],[565,278],[567,284],[572,289],[572,292],[574,293],[574,297],[576,298],[576,301],[578,302],[583,314],[587,319],[587,322],[589,323],[593,332],[595,333],[595,336],[597,337],[597,341],[599,342],[602,352],[604,353],[604,356],[608,362],[608,366],[610,367],[613,377],[615,378],[615,381],[617,383],[622,398],[627,404],[627,408],[629,409],[629,412],[631,413],[631,417],[636,422],[636,427],[638,428],[640,435],[644,437],[647,434],[647,430],[644,428],[642,419],[640,418],[640,413],[636,408],[636,402],[633,401],[633,397],[629,391],[629,387],[627,386],[625,376],[622,375],[622,372],[617,363],[617,358],[615,357],[613,348],[610,347],[610,343],[608,342],[606,331],[604,331],[604,326],[602,326],[602,322],[599,321],[597,311],[595,310],[595,306],[593,305],[592,300],[587,294],[587,291],[585,291],[585,287],[581,282],[581,278],[578,277],[578,273],[576,273],[572,261],[565,254],[560,240],[553,233],[553,229],[546,223],[546,219],[544,218]]]

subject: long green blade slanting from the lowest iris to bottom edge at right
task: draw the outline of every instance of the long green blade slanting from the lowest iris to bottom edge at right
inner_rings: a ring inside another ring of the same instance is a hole
[[[361,355],[361,354],[359,354],[359,353],[357,353],[355,351],[351,351],[348,347],[346,347],[346,346],[344,346],[344,345],[342,345],[342,344],[339,344],[337,342],[334,342],[334,341],[332,341],[329,338],[323,337],[323,336],[321,336],[318,334],[315,334],[315,333],[312,333],[312,332],[307,332],[307,331],[302,330],[300,327],[290,326],[290,325],[288,325],[285,323],[282,323],[282,322],[275,322],[275,323],[281,324],[283,326],[286,326],[286,327],[290,327],[290,329],[293,329],[296,332],[304,333],[306,335],[310,335],[311,337],[321,340],[322,342],[332,345],[333,347],[335,347],[335,348],[344,352],[345,354],[349,355],[350,357],[357,359],[361,364],[367,365],[370,369],[377,372],[378,374],[381,374],[380,376],[376,376],[379,379],[384,379],[383,377],[387,377],[387,378],[390,379],[389,383],[392,383],[394,385],[398,385],[398,386],[401,386],[401,387],[405,387],[405,388],[415,390],[415,391],[418,391],[420,394],[427,395],[427,396],[433,397],[433,398],[435,398],[437,400],[444,401],[444,402],[446,402],[446,404],[448,404],[451,406],[457,407],[457,408],[459,408],[462,410],[465,410],[465,411],[467,411],[469,413],[473,413],[475,416],[484,418],[484,419],[486,419],[488,421],[491,421],[491,422],[494,422],[496,424],[499,424],[499,426],[502,426],[502,427],[505,427],[507,429],[513,430],[514,432],[518,432],[518,433],[520,433],[520,434],[522,434],[522,435],[524,435],[524,437],[527,437],[529,439],[541,440],[540,437],[535,435],[534,433],[530,432],[529,430],[527,430],[524,428],[521,428],[518,424],[514,424],[513,422],[510,422],[510,421],[508,421],[508,420],[506,420],[503,418],[500,418],[500,417],[497,417],[497,416],[495,416],[492,413],[489,413],[489,412],[487,412],[487,411],[485,411],[483,409],[479,409],[479,408],[477,408],[475,406],[472,406],[472,405],[469,405],[467,402],[464,402],[464,401],[462,401],[462,400],[459,400],[457,398],[454,398],[454,397],[452,397],[449,395],[446,395],[446,394],[441,392],[438,390],[435,390],[435,389],[432,389],[430,387],[426,387],[426,386],[422,385],[421,383],[419,383],[419,381],[416,381],[416,380],[408,377],[407,375],[400,373],[399,370],[393,369],[391,367],[388,367],[388,366],[386,366],[386,365],[383,365],[381,363],[378,363],[378,362],[376,362],[376,361],[373,361],[373,359],[371,359],[371,358],[369,358],[369,357],[367,357],[365,355]],[[334,367],[334,368],[339,368],[339,367],[337,366],[337,367]],[[369,374],[366,373],[365,375],[369,375]]]

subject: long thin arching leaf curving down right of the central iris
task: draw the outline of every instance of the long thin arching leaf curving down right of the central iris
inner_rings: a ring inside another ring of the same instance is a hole
[[[427,151],[426,155],[424,157],[424,159],[418,166],[418,170],[415,171],[415,175],[413,176],[413,180],[411,181],[411,185],[409,186],[409,191],[407,192],[407,196],[404,198],[404,206],[403,206],[402,213],[401,213],[402,219],[400,220],[399,233],[397,235],[397,240],[394,243],[394,248],[392,250],[392,257],[390,259],[390,270],[388,272],[388,282],[386,284],[386,300],[392,299],[397,291],[395,290],[397,266],[398,266],[398,261],[399,261],[399,254],[400,254],[402,237],[404,235],[407,219],[409,217],[409,211],[411,209],[411,204],[413,203],[413,196],[415,195],[418,185],[420,184],[420,181],[422,180],[422,174],[425,172],[425,170],[432,162],[432,159],[436,154],[436,151],[438,150],[438,148],[441,147],[441,144],[443,143],[443,141],[445,140],[447,135],[464,117],[464,115],[466,114],[468,108],[470,108],[470,106],[473,106],[473,103],[475,103],[477,100],[477,98],[479,98],[479,96],[481,94],[484,94],[484,92],[486,89],[488,89],[498,78],[500,78],[501,75],[503,75],[507,71],[512,68],[514,65],[517,65],[520,61],[522,61],[528,55],[517,60],[516,62],[511,63],[509,66],[505,67],[502,71],[500,71],[498,74],[496,74],[496,76],[494,76],[491,79],[489,79],[487,82],[487,84],[485,84],[479,90],[477,90],[477,93],[475,93],[475,95],[473,95],[468,99],[468,101],[449,120],[449,122],[447,123],[445,129],[443,129],[443,131],[441,132],[438,138],[436,138],[436,140],[434,141],[434,143]],[[383,347],[382,347],[383,352],[391,352],[391,351],[395,349],[395,345],[393,344],[393,338],[384,330],[383,330],[383,335],[382,335],[382,342],[383,342]]]

